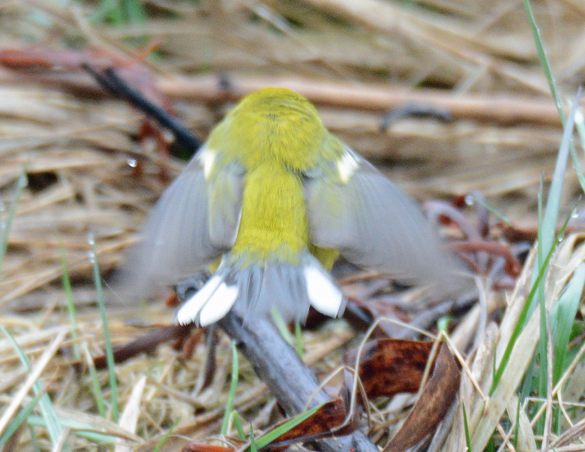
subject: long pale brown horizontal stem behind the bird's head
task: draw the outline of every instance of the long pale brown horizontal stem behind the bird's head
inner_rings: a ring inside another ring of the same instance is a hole
[[[473,94],[453,96],[450,92],[436,89],[412,90],[374,84],[356,86],[332,81],[318,83],[315,80],[285,77],[232,77],[226,86],[214,75],[190,78],[159,77],[157,86],[173,98],[199,99],[214,103],[226,99],[237,100],[260,88],[273,86],[292,89],[306,96],[311,102],[345,108],[388,111],[415,103],[448,111],[454,119],[473,118],[500,123],[532,122],[560,125],[559,113],[550,101],[546,99],[535,101],[509,94],[505,98]]]

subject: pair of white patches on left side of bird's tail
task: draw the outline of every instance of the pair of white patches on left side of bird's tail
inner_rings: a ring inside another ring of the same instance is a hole
[[[177,310],[176,322],[179,325],[192,322],[200,326],[211,325],[228,313],[238,298],[238,292],[238,287],[228,285],[219,275],[214,275]]]

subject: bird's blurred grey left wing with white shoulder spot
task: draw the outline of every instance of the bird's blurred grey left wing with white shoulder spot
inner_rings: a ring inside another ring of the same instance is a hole
[[[126,263],[137,295],[192,276],[233,246],[244,171],[238,164],[219,167],[218,160],[201,149],[154,206]]]

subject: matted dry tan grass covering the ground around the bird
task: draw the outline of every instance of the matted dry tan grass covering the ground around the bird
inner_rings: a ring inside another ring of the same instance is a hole
[[[178,114],[201,137],[207,136],[239,94],[264,84],[296,87],[315,101],[329,129],[418,198],[479,189],[512,222],[536,224],[539,180],[552,173],[562,129],[522,2],[151,0],[144,5],[146,23],[118,27],[88,19],[94,2],[59,6],[42,0],[7,1],[0,5],[0,42],[3,48],[39,43],[67,49],[92,44],[108,57],[132,60],[141,46],[156,40],[159,51],[142,68],[148,68],[157,87],[173,99]],[[585,70],[581,51],[585,8],[562,0],[532,6],[560,89],[572,95]],[[61,347],[67,346],[62,352],[71,350],[66,296],[60,283],[61,247],[73,278],[73,298],[79,309],[76,341],[85,362],[87,353],[97,356],[104,350],[88,234],[95,233],[99,265],[107,274],[136,240],[137,225],[164,189],[159,179],[161,165],[171,177],[181,168],[179,161],[160,157],[152,142],[137,143],[140,115],[125,103],[99,94],[81,71],[67,73],[65,82],[42,75],[37,71],[25,77],[0,70],[0,200],[4,206],[11,202],[25,165],[29,174],[0,273],[0,324],[16,337],[43,384],[49,384],[60,418],[112,436],[105,439],[106,444],[118,439],[116,451],[128,450],[122,444],[152,450],[178,419],[174,433],[181,437],[171,437],[163,450],[180,450],[183,437],[215,437],[229,380],[230,349],[225,337],[218,346],[214,381],[203,391],[202,345],[190,360],[166,344],[118,365],[121,407],[134,407],[135,413],[131,415],[129,409],[122,425],[97,414],[88,372],[69,365],[72,356],[59,353],[44,362],[39,359],[56,337],[63,340]],[[229,95],[219,89],[220,76],[228,81]],[[449,108],[453,120],[402,118],[381,131],[386,109],[411,102]],[[514,114],[508,114],[512,109]],[[143,162],[142,176],[136,176],[129,160]],[[570,206],[578,185],[571,171],[566,181],[565,205]],[[5,211],[0,211],[0,219],[4,216]],[[562,289],[559,282],[566,281],[583,261],[583,252],[578,240],[563,241],[547,276],[549,306]],[[512,358],[515,365],[507,370],[504,384],[491,398],[487,394],[494,346],[499,360],[532,276],[532,266],[525,265],[510,294],[486,285],[482,295],[487,312],[505,309],[501,320],[478,326],[484,318],[478,304],[460,319],[451,335],[462,353],[469,352],[472,344],[478,346],[477,353],[470,355],[470,373],[460,394],[474,452],[486,447],[494,430],[496,443],[512,448],[512,440],[501,439],[514,436],[513,429],[508,432],[510,419],[516,418],[514,397],[535,353],[538,312],[518,340]],[[137,322],[143,328],[162,320],[171,322],[171,309],[163,303],[137,307],[125,305],[116,294],[107,297],[115,344],[136,337],[141,328],[133,326]],[[481,340],[474,339],[478,331],[484,332]],[[321,371],[332,370],[355,334],[342,322],[305,332],[307,361]],[[2,412],[11,403],[18,408],[30,400],[22,394],[15,402],[27,375],[9,341],[0,339]],[[583,363],[576,362],[563,376],[566,386],[559,391],[561,398],[552,395],[549,400],[565,403],[561,434],[551,440],[556,451],[585,450],[579,439],[584,375]],[[98,377],[107,399],[108,375],[98,372]],[[253,419],[255,430],[275,419],[274,401],[245,362],[236,400],[235,408]],[[397,398],[376,415],[372,433],[380,444],[395,431],[397,424],[391,419],[404,416],[409,400]],[[536,447],[535,420],[526,415],[534,415],[536,406],[528,399],[521,407],[517,450]],[[38,412],[34,416],[40,419]],[[446,442],[441,450],[464,450],[462,419],[459,405],[452,425],[443,427]],[[72,434],[67,429],[73,431],[75,426],[64,425],[68,434],[63,450],[98,450],[95,438]],[[33,432],[40,450],[59,450],[51,445],[44,427],[34,427]],[[18,450],[35,447],[25,430]]]

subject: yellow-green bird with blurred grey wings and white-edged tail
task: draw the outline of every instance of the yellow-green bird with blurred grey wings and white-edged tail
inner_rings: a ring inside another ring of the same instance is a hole
[[[417,202],[286,88],[247,95],[214,127],[142,236],[127,266],[143,293],[212,270],[176,311],[180,325],[208,326],[231,309],[302,322],[312,306],[339,317],[338,257],[442,291],[458,284],[459,263]]]

